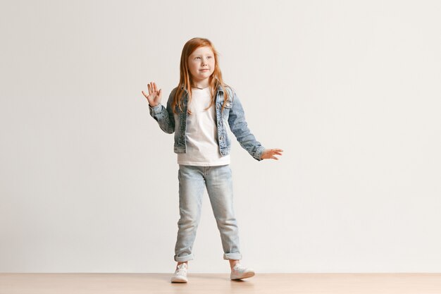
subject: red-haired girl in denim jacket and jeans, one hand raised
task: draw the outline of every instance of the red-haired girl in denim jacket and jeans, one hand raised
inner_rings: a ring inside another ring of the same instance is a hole
[[[179,209],[172,283],[187,283],[187,262],[193,259],[193,243],[201,216],[206,188],[221,233],[224,259],[228,259],[232,280],[254,276],[240,264],[237,221],[232,205],[229,127],[240,145],[254,159],[278,159],[281,149],[265,149],[251,134],[242,104],[235,91],[225,84],[218,65],[218,52],[208,39],[193,38],[185,43],[180,59],[178,87],[161,105],[162,90],[155,82],[147,85],[151,116],[166,133],[175,133],[178,154]]]

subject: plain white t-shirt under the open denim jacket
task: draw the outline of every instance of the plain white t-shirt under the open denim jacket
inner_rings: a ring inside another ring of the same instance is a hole
[[[209,109],[210,88],[192,88],[192,101],[187,115],[187,153],[178,154],[178,164],[189,166],[222,166],[230,164],[230,155],[223,157],[219,152],[216,109],[213,104]]]

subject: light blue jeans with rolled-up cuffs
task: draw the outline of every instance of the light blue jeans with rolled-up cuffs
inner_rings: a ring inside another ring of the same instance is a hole
[[[179,166],[178,238],[175,261],[193,259],[192,252],[197,226],[201,217],[202,196],[206,188],[211,208],[221,233],[223,259],[242,259],[239,250],[239,231],[232,207],[232,175],[225,166]]]

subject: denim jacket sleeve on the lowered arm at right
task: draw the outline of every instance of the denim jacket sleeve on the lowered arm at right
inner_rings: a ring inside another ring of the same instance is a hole
[[[245,121],[244,109],[235,92],[232,94],[232,106],[228,116],[228,124],[242,148],[247,150],[251,157],[261,161],[261,155],[265,147],[256,140],[256,137],[249,130],[247,121]]]

